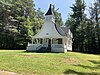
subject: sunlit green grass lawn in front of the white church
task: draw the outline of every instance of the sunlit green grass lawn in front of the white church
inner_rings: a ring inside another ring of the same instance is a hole
[[[100,75],[100,55],[0,50],[0,70],[22,75]]]

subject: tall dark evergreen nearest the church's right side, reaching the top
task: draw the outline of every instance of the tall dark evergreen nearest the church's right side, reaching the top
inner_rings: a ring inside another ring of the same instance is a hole
[[[84,0],[76,0],[73,7],[71,7],[73,13],[70,18],[66,21],[66,24],[70,25],[71,31],[73,33],[73,50],[74,51],[84,51],[84,38],[85,38],[85,28],[86,28],[86,15]]]

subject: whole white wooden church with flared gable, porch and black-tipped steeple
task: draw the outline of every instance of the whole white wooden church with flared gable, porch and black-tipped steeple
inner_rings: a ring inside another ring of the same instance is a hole
[[[72,51],[73,35],[67,26],[59,27],[55,23],[52,5],[45,14],[44,24],[41,30],[28,44],[27,51],[64,52]]]

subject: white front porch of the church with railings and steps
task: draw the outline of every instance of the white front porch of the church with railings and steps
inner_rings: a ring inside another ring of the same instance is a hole
[[[63,41],[63,38],[33,38],[32,43],[28,44],[27,50],[65,52]]]

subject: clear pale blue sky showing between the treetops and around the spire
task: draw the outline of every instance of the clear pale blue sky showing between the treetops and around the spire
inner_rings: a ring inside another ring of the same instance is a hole
[[[93,2],[94,0],[85,0],[87,6],[91,5]],[[75,0],[34,0],[34,3],[35,8],[41,8],[44,13],[46,13],[50,4],[55,5],[56,9],[59,8],[58,12],[61,13],[62,20],[65,22],[71,12],[70,7],[75,3]],[[86,10],[88,10],[88,8],[86,8]]]

